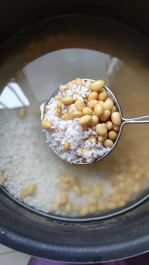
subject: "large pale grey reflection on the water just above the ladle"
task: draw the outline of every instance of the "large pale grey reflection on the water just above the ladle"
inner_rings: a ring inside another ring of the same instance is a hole
[[[94,62],[93,72],[91,62]],[[23,68],[23,73],[37,101],[44,101],[50,98],[59,84],[74,80],[77,76],[94,80],[100,76],[108,86],[106,64],[110,64],[110,56],[102,52],[61,49],[34,60]]]

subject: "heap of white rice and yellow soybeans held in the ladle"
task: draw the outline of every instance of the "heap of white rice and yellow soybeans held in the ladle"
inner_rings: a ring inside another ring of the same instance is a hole
[[[117,139],[121,117],[105,82],[77,78],[60,85],[41,122],[47,143],[69,163],[93,163],[108,153]]]

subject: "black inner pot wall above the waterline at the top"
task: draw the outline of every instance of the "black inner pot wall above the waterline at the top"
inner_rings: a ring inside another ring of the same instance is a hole
[[[38,0],[36,4],[29,0],[22,2],[14,0],[13,3],[2,0],[0,14],[1,42],[39,20],[65,14],[86,14],[113,19],[149,37],[148,2],[146,0],[141,2],[126,0],[125,3],[120,3],[118,0],[114,3],[110,0],[106,2],[73,0],[71,3],[68,0],[63,2]]]

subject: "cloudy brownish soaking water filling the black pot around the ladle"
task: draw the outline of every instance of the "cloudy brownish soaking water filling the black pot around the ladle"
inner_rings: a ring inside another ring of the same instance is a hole
[[[104,79],[125,118],[147,115],[148,41],[114,22],[79,18],[76,22],[74,17],[60,22],[44,21],[26,29],[2,49],[0,174],[6,189],[19,199],[22,189],[35,184],[35,195],[24,202],[47,213],[63,193],[60,174],[77,177],[80,186],[91,185],[91,196],[95,187],[101,188],[95,207],[99,215],[112,210],[109,202],[125,207],[148,188],[148,125],[125,126],[110,155],[80,167],[63,162],[45,143],[39,107],[59,85],[82,77]],[[77,197],[72,188],[67,195],[72,205],[88,207],[88,195]],[[66,214],[64,208],[56,213]]]

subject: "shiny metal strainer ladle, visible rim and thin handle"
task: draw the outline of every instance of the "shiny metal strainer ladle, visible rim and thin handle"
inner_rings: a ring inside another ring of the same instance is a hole
[[[95,82],[95,80],[91,80],[91,79],[84,79],[85,81],[92,81],[92,82]],[[75,81],[75,80],[72,80],[72,81]],[[67,83],[64,84],[67,85]],[[107,92],[107,97],[109,98],[112,98],[113,102],[114,102],[114,105],[116,107],[116,110],[117,112],[120,113],[120,116],[121,116],[121,125],[120,125],[120,130],[117,131],[117,139],[114,141],[114,144],[113,146],[111,147],[110,151],[105,153],[102,157],[96,159],[93,163],[95,162],[98,162],[100,161],[101,159],[105,158],[107,155],[109,155],[111,153],[111,151],[115,148],[115,146],[117,145],[118,143],[118,140],[120,139],[120,135],[122,133],[122,128],[125,124],[130,124],[130,123],[149,123],[149,120],[143,120],[143,119],[147,119],[149,118],[149,115],[146,115],[146,116],[141,116],[141,117],[136,117],[136,118],[131,118],[131,119],[125,119],[123,116],[122,116],[122,110],[121,110],[121,107],[120,107],[120,104],[117,100],[117,97],[115,97],[115,95],[111,92],[111,90],[109,88],[107,88],[106,86],[104,86],[104,88],[102,90],[105,90]],[[59,92],[59,88],[52,94],[52,96],[50,97],[50,99],[52,97],[55,97],[57,95],[57,93]],[[49,99],[49,100],[50,100]],[[49,101],[48,101],[49,102]],[[41,120],[43,120],[44,118],[44,113],[45,113],[45,106],[48,104],[48,102],[44,102],[41,106],[40,106],[40,110],[41,110]],[[51,147],[52,148],[52,147]],[[53,148],[52,148],[53,150]],[[62,157],[55,151],[53,150],[61,159]],[[67,160],[65,160],[67,161]],[[68,161],[67,161],[68,162]],[[68,162],[70,163],[70,162]],[[75,164],[76,165],[76,164]],[[77,165],[88,165],[88,163],[77,163]]]

